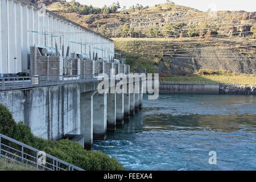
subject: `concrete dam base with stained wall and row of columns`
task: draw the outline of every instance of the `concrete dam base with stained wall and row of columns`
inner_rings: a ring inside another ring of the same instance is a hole
[[[3,90],[0,101],[16,122],[24,121],[37,137],[57,140],[75,136],[90,149],[93,139],[106,139],[107,130],[115,130],[142,107],[142,80],[140,92],[135,93],[135,78],[126,79],[128,93],[98,93],[97,78],[77,78],[73,83]]]

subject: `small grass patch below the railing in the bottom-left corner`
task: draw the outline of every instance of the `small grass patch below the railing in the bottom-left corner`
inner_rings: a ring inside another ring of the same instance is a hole
[[[14,160],[0,158],[0,171],[36,171],[36,167],[19,164]]]

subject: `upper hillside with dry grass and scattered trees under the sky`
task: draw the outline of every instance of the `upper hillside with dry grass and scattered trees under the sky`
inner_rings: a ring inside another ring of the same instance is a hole
[[[256,22],[255,12],[217,11],[201,12],[174,3],[162,3],[152,7],[135,5],[120,9],[119,3],[102,8],[81,5],[79,2],[55,2],[48,10],[91,28],[109,38],[159,37],[159,36],[203,36],[209,27],[216,27],[208,34],[225,36],[251,36],[250,28]],[[239,26],[243,24],[244,26]],[[224,27],[224,28],[218,28]],[[183,29],[192,29],[181,31]],[[194,28],[194,30],[193,30]],[[205,28],[196,32],[196,28]],[[175,31],[171,31],[175,30]],[[205,32],[204,32],[205,31]],[[165,34],[164,34],[165,33]],[[170,33],[170,34],[168,34]]]

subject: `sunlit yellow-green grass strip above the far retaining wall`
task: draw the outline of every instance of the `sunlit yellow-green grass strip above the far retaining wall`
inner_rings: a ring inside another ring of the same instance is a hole
[[[205,81],[222,84],[256,85],[256,75],[232,73],[229,71],[200,71],[195,75],[160,77],[160,81]]]

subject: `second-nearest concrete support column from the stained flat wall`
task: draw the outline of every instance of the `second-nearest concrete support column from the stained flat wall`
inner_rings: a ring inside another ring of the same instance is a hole
[[[93,139],[106,139],[106,93],[93,96]]]

